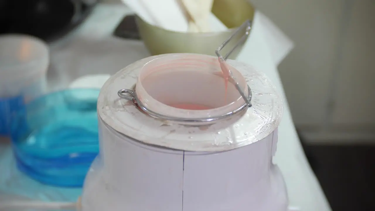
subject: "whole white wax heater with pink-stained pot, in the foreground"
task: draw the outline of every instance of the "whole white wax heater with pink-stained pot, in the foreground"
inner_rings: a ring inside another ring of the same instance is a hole
[[[284,179],[272,163],[281,96],[263,73],[227,62],[252,107],[235,81],[225,87],[212,56],[152,56],[108,79],[83,211],[287,211]]]

